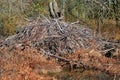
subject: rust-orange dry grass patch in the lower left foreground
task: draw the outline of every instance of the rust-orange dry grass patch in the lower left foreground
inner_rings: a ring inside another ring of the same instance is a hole
[[[54,80],[48,72],[61,71],[55,62],[46,60],[36,49],[7,47],[0,49],[0,80]]]

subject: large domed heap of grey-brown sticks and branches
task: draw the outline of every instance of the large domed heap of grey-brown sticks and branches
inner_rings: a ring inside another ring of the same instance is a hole
[[[93,36],[93,30],[79,23],[66,23],[57,19],[30,23],[18,34],[5,39],[3,45],[30,42],[38,50],[50,53],[73,53],[79,48],[116,48],[116,44]],[[107,46],[107,47],[106,47]]]

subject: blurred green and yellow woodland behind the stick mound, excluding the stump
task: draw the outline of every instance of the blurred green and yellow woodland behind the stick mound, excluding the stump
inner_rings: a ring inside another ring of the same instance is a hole
[[[0,38],[16,34],[30,21],[50,18],[51,0],[0,0]],[[63,20],[79,21],[106,39],[120,40],[120,0],[56,0]]]

